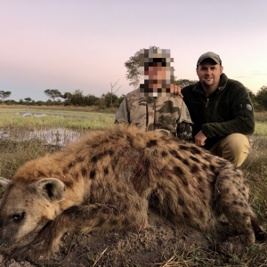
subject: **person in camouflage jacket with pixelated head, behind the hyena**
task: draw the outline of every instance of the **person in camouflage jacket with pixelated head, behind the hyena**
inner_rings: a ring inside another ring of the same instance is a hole
[[[180,139],[190,140],[190,113],[178,95],[174,95],[174,68],[166,49],[143,49],[140,74],[144,82],[128,93],[117,109],[115,123],[134,124],[147,131],[165,130]]]

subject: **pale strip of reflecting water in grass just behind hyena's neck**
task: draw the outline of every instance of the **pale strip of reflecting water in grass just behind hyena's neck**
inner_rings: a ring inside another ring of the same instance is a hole
[[[80,129],[72,131],[70,129],[41,129],[41,130],[16,130],[4,129],[0,130],[0,140],[12,142],[23,142],[30,140],[40,140],[50,145],[64,146],[69,142],[76,141],[79,137],[85,135],[89,130]]]

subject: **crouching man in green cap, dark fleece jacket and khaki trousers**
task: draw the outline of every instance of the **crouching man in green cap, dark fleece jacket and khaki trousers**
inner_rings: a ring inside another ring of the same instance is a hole
[[[190,110],[194,141],[214,155],[241,166],[249,149],[245,134],[253,134],[255,129],[247,89],[226,77],[222,61],[215,53],[202,54],[196,70],[199,82],[178,93]]]

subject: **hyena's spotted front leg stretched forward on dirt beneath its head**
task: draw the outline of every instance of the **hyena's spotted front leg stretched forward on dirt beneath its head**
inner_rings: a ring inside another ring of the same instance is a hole
[[[141,198],[135,202],[131,199],[131,203],[125,200],[122,208],[107,204],[71,206],[40,231],[33,242],[16,248],[11,258],[36,261],[39,256],[47,257],[66,231],[142,230],[147,220],[147,200]]]

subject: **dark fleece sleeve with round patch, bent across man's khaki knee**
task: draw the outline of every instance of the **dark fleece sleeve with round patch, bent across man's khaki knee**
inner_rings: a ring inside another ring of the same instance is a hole
[[[207,138],[226,136],[229,134],[253,134],[255,130],[255,118],[252,102],[247,89],[239,85],[232,89],[231,112],[233,119],[223,123],[207,123],[201,126],[203,134]]]

